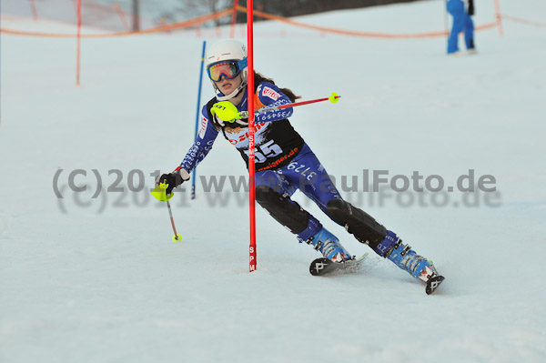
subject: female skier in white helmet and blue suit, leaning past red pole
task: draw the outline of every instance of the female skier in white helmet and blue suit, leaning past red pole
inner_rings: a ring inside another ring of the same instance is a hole
[[[248,166],[248,120],[239,112],[248,111],[247,49],[242,43],[225,39],[212,45],[206,57],[207,75],[217,95],[202,110],[202,122],[193,146],[172,173],[159,177],[159,183],[173,188],[189,180],[189,173],[210,151],[218,134],[240,152]],[[278,88],[271,79],[254,74],[255,109],[293,103],[298,97],[287,88]],[[271,217],[311,245],[324,257],[343,262],[353,257],[339,239],[322,227],[316,217],[290,199],[296,189],[313,200],[340,226],[346,227],[361,243],[369,245],[379,256],[389,258],[413,277],[427,282],[436,277],[436,269],[427,258],[420,257],[397,235],[380,225],[357,207],[343,200],[319,159],[288,117],[293,109],[258,113],[255,116],[256,199]]]

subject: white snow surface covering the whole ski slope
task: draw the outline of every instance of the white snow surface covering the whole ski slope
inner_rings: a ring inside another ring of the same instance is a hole
[[[546,12],[543,1],[501,3],[503,14],[534,22]],[[477,24],[494,21],[493,2],[478,6]],[[413,33],[443,29],[445,15],[442,2],[426,1],[299,20]],[[2,26],[11,21],[23,20]],[[292,117],[331,175],[416,170],[446,186],[469,169],[496,178],[497,193],[454,192],[444,207],[430,193],[405,195],[427,207],[396,203],[392,191],[383,203],[343,193],[434,260],[446,281],[432,296],[375,254],[359,274],[311,277],[318,254],[262,209],[258,270],[248,273],[245,195],[204,193],[200,183],[196,200],[178,192],[172,203],[183,240],[171,242],[167,207],[128,191],[127,178],[142,170],[151,187],[149,174],[172,170],[192,142],[195,33],[85,39],[79,88],[74,39],[2,35],[0,361],[546,361],[546,29],[503,25],[504,36],[476,35],[477,55],[455,58],[444,38],[256,28],[259,71],[304,99],[342,96]],[[86,170],[76,176],[86,192],[67,186],[76,169]],[[96,198],[94,169],[104,187]],[[106,192],[112,169],[125,193]],[[246,174],[221,137],[197,171]],[[353,254],[369,250],[297,200]]]

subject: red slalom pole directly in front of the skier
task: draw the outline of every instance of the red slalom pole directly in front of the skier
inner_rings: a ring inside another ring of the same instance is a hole
[[[248,47],[248,186],[250,187],[250,266],[249,271],[255,271],[256,261],[256,170],[254,149],[254,4],[247,0],[247,47]]]

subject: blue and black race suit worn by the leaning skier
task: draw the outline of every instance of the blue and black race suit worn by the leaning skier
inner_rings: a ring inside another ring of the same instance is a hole
[[[256,110],[291,102],[272,83],[262,82],[255,89]],[[248,166],[248,126],[237,123],[219,125],[210,114],[210,109],[216,102],[215,97],[203,106],[197,139],[180,164],[188,173],[207,156],[219,133],[238,149]],[[238,111],[248,111],[246,92]],[[288,117],[292,113],[293,109],[288,107],[255,116],[256,186],[267,185],[288,196],[300,189],[326,213],[329,201],[341,197],[317,156],[290,125]],[[319,221],[310,216],[308,227],[298,233],[299,240],[307,240],[321,227]]]

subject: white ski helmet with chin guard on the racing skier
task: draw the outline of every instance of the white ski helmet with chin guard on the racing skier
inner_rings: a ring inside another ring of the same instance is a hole
[[[247,46],[235,39],[222,39],[217,41],[215,44],[211,45],[207,49],[207,56],[205,57],[207,70],[210,66],[217,64],[222,61],[241,61],[247,58]],[[247,77],[248,77],[248,67],[243,66],[239,69],[241,75],[241,85],[233,91],[231,94],[226,96],[217,96],[218,101],[226,101],[234,96],[237,96],[238,93],[245,89],[247,86]],[[218,89],[216,83],[213,80],[210,80],[214,89]]]

